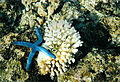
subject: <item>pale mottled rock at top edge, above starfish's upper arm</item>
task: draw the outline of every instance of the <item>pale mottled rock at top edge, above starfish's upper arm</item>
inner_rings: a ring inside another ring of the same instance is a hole
[[[25,9],[23,10],[19,28],[22,26],[34,27],[35,25],[40,27],[40,25],[43,24],[44,19],[50,18],[58,8],[59,3],[59,0],[22,0]]]

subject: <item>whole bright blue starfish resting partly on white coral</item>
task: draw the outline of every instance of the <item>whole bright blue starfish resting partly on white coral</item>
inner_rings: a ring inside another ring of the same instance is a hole
[[[27,60],[26,70],[29,69],[29,66],[32,62],[32,58],[35,55],[36,51],[41,51],[45,55],[48,55],[54,59],[56,58],[56,56],[53,55],[52,53],[50,53],[47,49],[43,48],[42,46],[38,46],[43,41],[43,39],[42,39],[42,35],[37,26],[35,26],[35,29],[36,29],[36,33],[38,36],[38,40],[35,43],[29,43],[29,42],[23,42],[23,41],[13,42],[13,44],[15,44],[15,45],[26,46],[26,47],[32,48],[32,51],[30,52],[28,60]]]

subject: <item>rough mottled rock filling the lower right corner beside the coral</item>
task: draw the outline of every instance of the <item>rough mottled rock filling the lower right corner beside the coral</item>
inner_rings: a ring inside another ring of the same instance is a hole
[[[120,81],[120,56],[106,50],[93,49],[77,66],[58,76],[58,82]],[[107,52],[107,53],[106,53]]]

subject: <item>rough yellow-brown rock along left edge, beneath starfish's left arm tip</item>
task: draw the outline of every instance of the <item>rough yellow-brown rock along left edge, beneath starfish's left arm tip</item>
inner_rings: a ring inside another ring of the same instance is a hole
[[[24,52],[15,49],[11,44],[13,40],[16,40],[16,36],[18,36],[17,33],[9,33],[0,39],[0,81],[2,82],[28,79],[28,73],[22,69],[20,62]]]

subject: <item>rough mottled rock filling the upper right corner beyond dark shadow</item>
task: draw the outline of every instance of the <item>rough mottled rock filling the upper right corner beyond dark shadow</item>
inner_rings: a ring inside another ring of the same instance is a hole
[[[98,15],[112,37],[112,44],[120,46],[120,1],[119,0],[79,0],[90,12]]]

